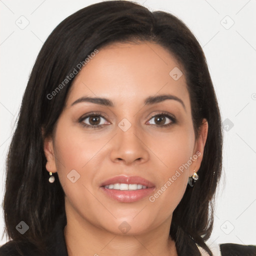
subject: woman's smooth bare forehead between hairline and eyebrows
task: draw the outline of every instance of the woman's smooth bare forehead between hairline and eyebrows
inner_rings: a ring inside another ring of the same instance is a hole
[[[171,93],[186,101],[189,97],[182,73],[177,60],[158,44],[113,43],[99,48],[79,71],[67,104],[84,95],[122,103],[142,101],[147,96],[162,93]]]

